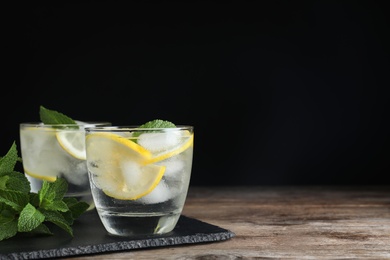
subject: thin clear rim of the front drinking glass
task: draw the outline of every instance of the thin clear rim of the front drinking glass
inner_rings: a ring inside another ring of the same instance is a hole
[[[141,125],[111,125],[111,126],[92,126],[86,127],[86,132],[142,132],[142,131],[180,131],[180,130],[194,130],[194,126],[192,125],[176,125],[176,127],[169,128],[145,128],[140,127]]]

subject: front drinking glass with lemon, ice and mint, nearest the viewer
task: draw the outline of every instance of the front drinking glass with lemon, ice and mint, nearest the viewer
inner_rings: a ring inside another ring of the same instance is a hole
[[[172,231],[189,188],[193,127],[94,127],[85,140],[92,196],[108,233]]]

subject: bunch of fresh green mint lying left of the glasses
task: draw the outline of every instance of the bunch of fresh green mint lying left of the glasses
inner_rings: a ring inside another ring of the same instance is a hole
[[[30,182],[14,170],[18,156],[13,142],[8,153],[0,158],[0,241],[18,233],[53,235],[48,223],[57,225],[73,236],[74,220],[89,207],[75,198],[64,198],[68,183],[62,178],[44,181],[38,193],[30,192]]]

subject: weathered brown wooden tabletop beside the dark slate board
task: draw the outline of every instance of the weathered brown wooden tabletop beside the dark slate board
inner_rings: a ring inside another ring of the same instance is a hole
[[[190,187],[183,214],[235,236],[72,259],[390,259],[390,186]]]

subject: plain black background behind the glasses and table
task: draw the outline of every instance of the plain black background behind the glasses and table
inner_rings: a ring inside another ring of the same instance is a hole
[[[8,3],[1,155],[43,105],[194,125],[192,185],[389,184],[385,3]]]

